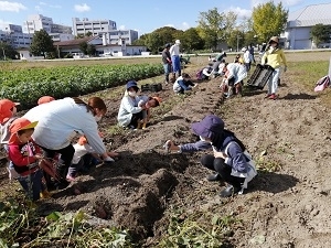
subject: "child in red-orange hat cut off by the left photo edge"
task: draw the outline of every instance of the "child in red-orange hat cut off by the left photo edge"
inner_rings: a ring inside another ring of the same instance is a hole
[[[6,154],[8,153],[8,141],[10,138],[9,132],[9,126],[12,123],[17,117],[14,115],[17,114],[17,106],[20,105],[19,103],[13,103],[9,99],[2,99],[0,100],[0,131],[1,131],[1,144],[3,145],[3,149],[6,151]],[[8,164],[8,173],[9,179],[18,179],[19,174],[15,172],[13,164],[11,161],[9,161]]]

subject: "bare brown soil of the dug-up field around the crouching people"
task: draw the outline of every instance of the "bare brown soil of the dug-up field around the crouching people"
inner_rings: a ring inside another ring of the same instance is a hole
[[[287,54],[289,62],[329,61],[331,53]],[[231,61],[231,58],[228,58]],[[193,58],[185,72],[195,76],[206,58]],[[163,105],[147,130],[119,131],[105,142],[121,153],[113,165],[99,165],[76,183],[43,201],[39,212],[75,212],[79,208],[109,224],[131,230],[141,247],[157,247],[167,233],[172,209],[184,217],[196,212],[233,216],[241,224],[226,239],[227,247],[331,247],[331,114],[319,95],[289,82],[291,67],[281,76],[277,100],[266,90],[226,99],[220,79],[200,83],[186,97],[164,86]],[[321,75],[323,76],[323,75]],[[316,78],[318,79],[318,78]],[[162,77],[153,78],[162,82]],[[145,82],[146,83],[146,82]],[[122,87],[99,93],[108,105],[100,128],[110,133]],[[114,94],[119,93],[119,94]],[[167,104],[168,103],[168,104]],[[199,164],[202,153],[166,153],[162,144],[194,141],[190,125],[214,112],[246,144],[260,171],[243,195],[222,200],[222,183],[207,182],[211,172]],[[1,187],[8,181],[1,176]],[[74,188],[82,194],[75,195]]]

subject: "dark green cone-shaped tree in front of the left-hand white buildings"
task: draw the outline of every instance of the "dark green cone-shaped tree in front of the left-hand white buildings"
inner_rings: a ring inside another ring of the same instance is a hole
[[[46,57],[46,53],[52,53],[54,51],[53,40],[49,33],[44,30],[35,31],[30,45],[30,52],[34,56]]]

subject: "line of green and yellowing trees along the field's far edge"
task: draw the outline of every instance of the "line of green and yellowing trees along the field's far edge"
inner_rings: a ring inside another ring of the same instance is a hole
[[[220,44],[226,44],[232,51],[237,51],[248,44],[261,44],[271,36],[279,36],[287,28],[288,10],[282,3],[269,1],[253,8],[252,17],[239,20],[235,12],[221,12],[213,8],[200,12],[196,28],[185,31],[171,26],[159,28],[151,33],[141,35],[132,45],[143,45],[153,54],[160,53],[167,43],[181,40],[183,52],[217,51]],[[86,33],[85,35],[92,35]],[[79,39],[81,36],[77,36]],[[331,40],[331,25],[317,24],[311,29],[310,37],[317,46],[329,43]],[[17,53],[6,41],[0,41],[0,58],[14,58]],[[96,47],[87,42],[79,44],[79,50],[86,55],[95,55]],[[53,45],[51,36],[44,31],[36,31],[33,35],[30,52],[35,56],[63,57],[63,54]]]

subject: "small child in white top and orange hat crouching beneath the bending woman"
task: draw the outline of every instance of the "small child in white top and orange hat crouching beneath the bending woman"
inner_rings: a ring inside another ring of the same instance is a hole
[[[103,138],[103,133],[99,132],[99,137]],[[75,153],[72,160],[72,165],[68,168],[68,172],[66,175],[67,182],[73,182],[76,179],[76,174],[78,170],[84,170],[84,168],[90,166],[92,163],[98,164],[102,163],[103,160],[100,155],[95,152],[95,150],[88,144],[85,136],[82,136],[77,143],[74,144]],[[87,160],[87,154],[89,154],[89,159]],[[104,160],[104,162],[114,162],[115,160],[111,157],[118,157],[116,152],[108,152],[109,159]],[[94,160],[94,161],[93,161]]]

